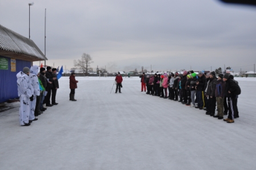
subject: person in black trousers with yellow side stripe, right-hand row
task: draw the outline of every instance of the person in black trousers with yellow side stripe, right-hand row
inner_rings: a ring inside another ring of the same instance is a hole
[[[205,75],[203,74],[202,71],[199,71],[198,73],[198,80],[195,84],[197,84],[195,86],[195,89],[197,90],[197,107],[195,108],[199,108],[200,110],[202,110],[205,107]]]

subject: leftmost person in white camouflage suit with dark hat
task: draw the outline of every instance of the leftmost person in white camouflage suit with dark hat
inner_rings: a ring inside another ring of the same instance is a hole
[[[30,126],[30,100],[33,100],[33,91],[31,89],[29,72],[30,69],[28,67],[24,67],[23,71],[18,72],[18,74],[16,75],[18,95],[20,100],[19,123],[21,124],[21,126]]]

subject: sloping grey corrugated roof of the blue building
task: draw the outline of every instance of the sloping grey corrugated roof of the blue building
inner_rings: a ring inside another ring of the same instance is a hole
[[[23,37],[2,25],[0,25],[0,50],[29,55],[38,58],[38,60],[47,60],[43,52],[31,39]]]

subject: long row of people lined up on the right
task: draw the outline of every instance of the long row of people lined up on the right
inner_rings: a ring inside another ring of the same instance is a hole
[[[237,99],[241,94],[238,82],[233,75],[215,72],[203,73],[199,71],[183,71],[183,74],[150,74],[143,72],[141,91],[146,94],[170,99],[199,110],[205,110],[206,115],[223,119],[228,114],[227,123],[234,123],[239,118]],[[197,103],[197,104],[196,104]],[[217,115],[215,115],[217,105]]]

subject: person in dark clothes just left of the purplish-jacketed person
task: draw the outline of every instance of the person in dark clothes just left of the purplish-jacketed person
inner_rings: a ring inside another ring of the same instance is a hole
[[[210,72],[209,83],[207,86],[206,97],[209,100],[209,112],[206,115],[214,116],[216,109],[216,98],[215,98],[215,88],[217,86],[217,79],[215,77],[215,72]],[[215,116],[214,116],[215,118]]]

